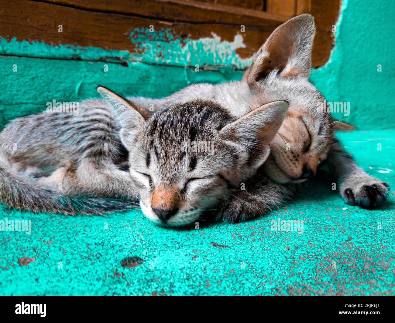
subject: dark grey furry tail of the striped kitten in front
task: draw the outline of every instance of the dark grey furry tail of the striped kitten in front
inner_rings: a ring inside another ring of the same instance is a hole
[[[33,212],[62,213],[68,215],[103,215],[134,209],[137,203],[100,198],[71,198],[60,194],[56,188],[38,186],[26,176],[5,168],[0,163],[0,202],[11,208]]]

